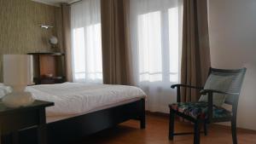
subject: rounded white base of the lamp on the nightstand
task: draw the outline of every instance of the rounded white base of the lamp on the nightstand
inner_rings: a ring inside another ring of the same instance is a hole
[[[31,105],[35,100],[29,92],[12,92],[3,97],[3,104],[6,107],[26,107]]]

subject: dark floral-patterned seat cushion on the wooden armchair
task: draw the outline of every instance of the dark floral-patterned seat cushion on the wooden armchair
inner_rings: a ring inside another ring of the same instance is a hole
[[[207,118],[207,102],[199,101],[199,102],[179,102],[170,105],[172,110],[181,112],[187,116],[192,118]],[[230,118],[232,113],[227,111],[223,107],[213,106],[212,118]]]

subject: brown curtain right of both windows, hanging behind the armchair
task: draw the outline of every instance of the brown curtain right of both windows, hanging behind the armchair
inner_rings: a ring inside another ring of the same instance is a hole
[[[181,83],[203,86],[210,62],[207,0],[183,1]],[[182,89],[182,101],[198,101],[195,89]]]

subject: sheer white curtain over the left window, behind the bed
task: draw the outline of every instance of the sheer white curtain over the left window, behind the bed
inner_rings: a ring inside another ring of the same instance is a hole
[[[101,1],[71,6],[73,81],[102,83]]]

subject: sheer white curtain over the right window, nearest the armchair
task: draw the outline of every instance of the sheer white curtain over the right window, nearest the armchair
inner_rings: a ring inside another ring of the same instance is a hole
[[[168,112],[176,101],[171,84],[179,81],[182,1],[130,1],[134,81],[148,95],[146,107]]]

